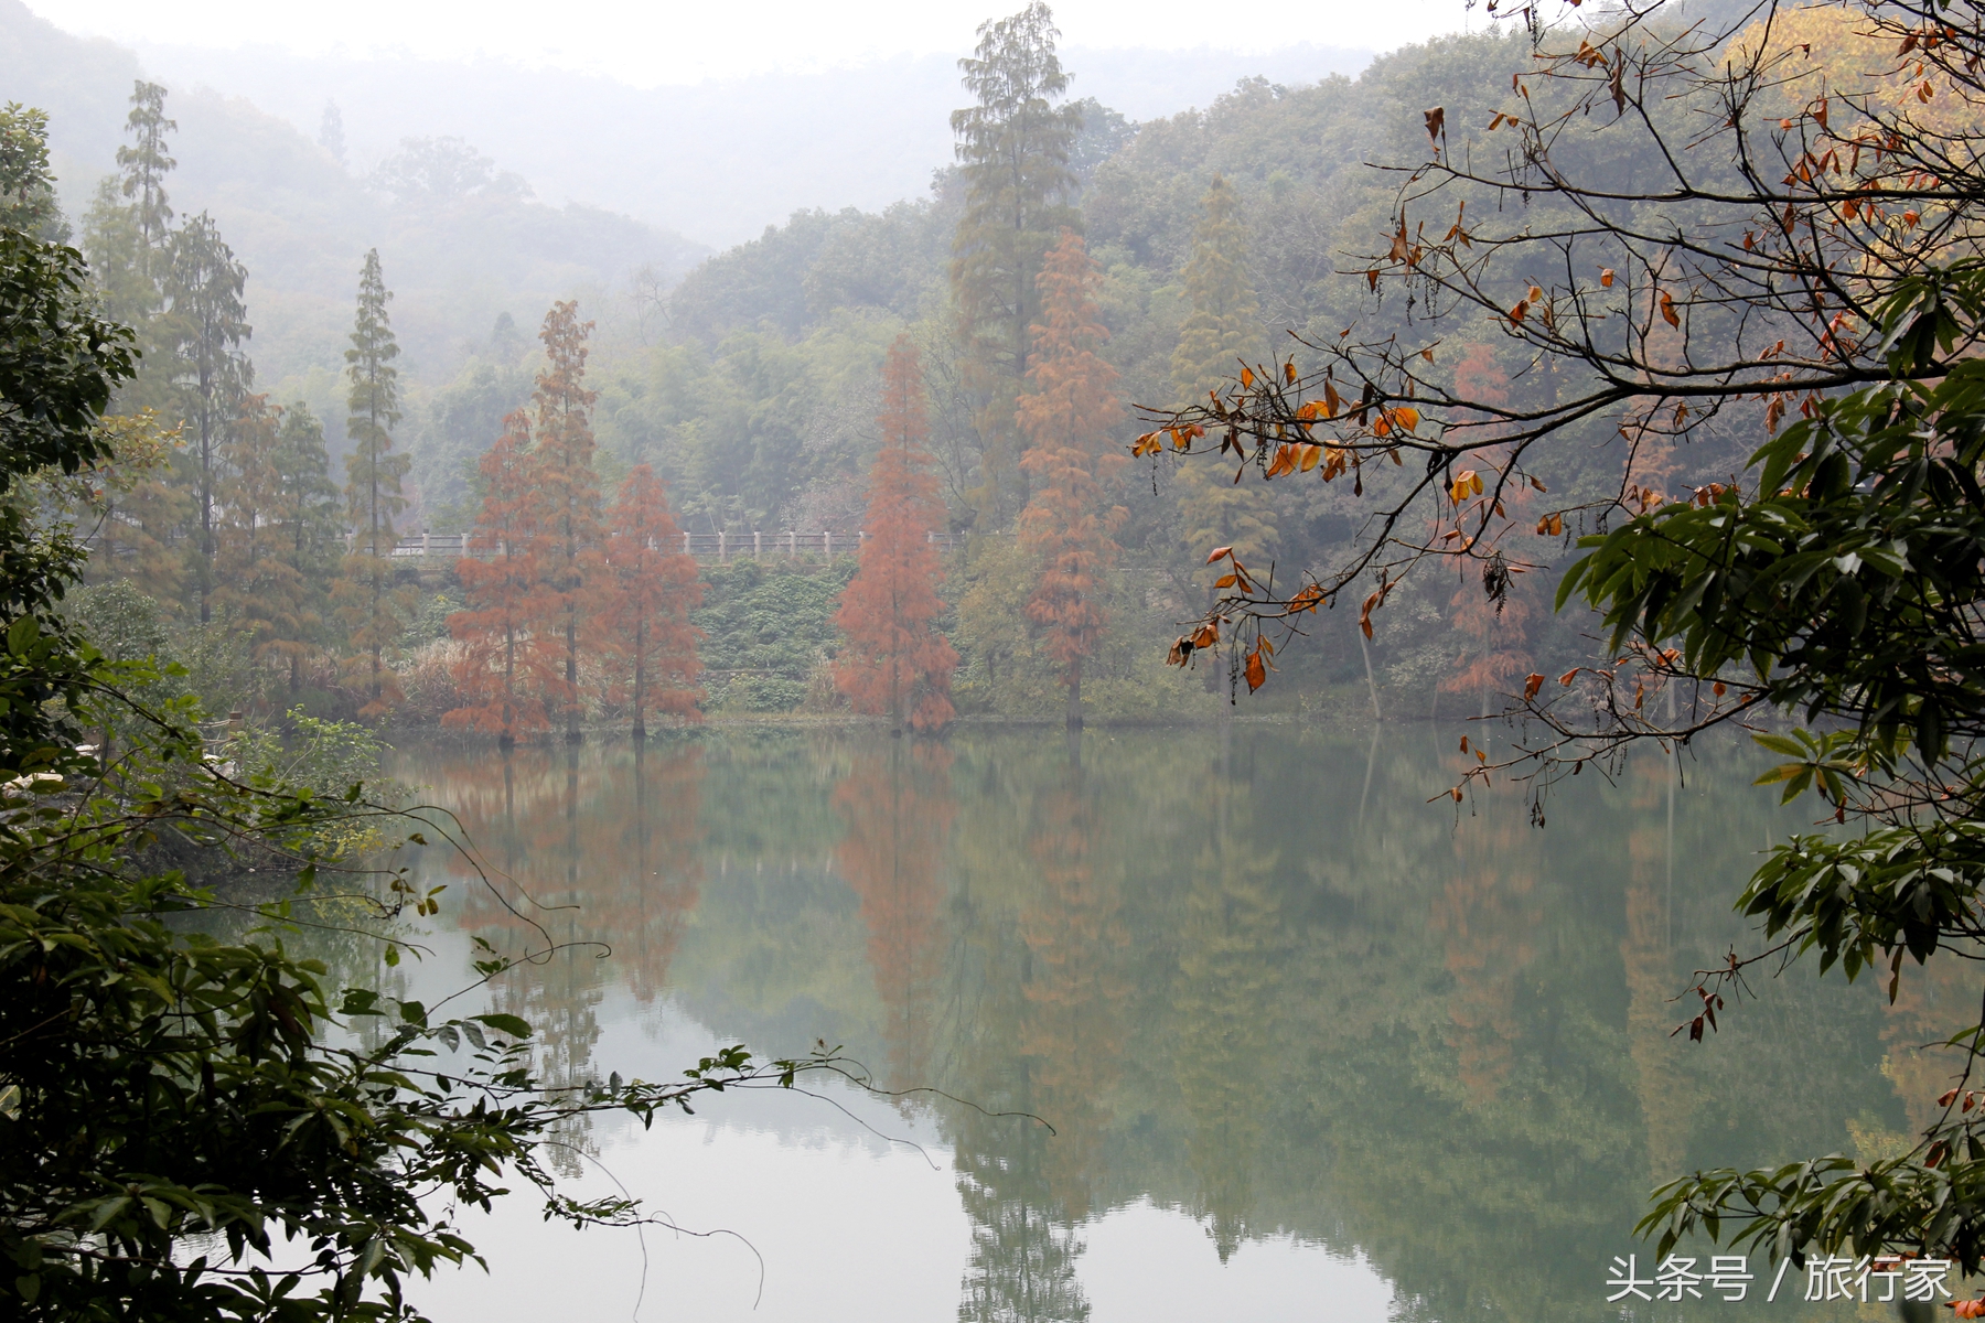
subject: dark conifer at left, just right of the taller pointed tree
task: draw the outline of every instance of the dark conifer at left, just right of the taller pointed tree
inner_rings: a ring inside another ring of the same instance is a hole
[[[254,367],[240,343],[252,335],[242,292],[248,268],[206,212],[200,212],[167,240],[165,296],[169,309],[163,331],[173,339],[181,415],[187,419],[185,482],[193,490],[198,520],[195,591],[200,623],[212,619],[214,593],[214,496],[220,480],[222,432],[242,409]],[[266,409],[266,401],[262,405]],[[274,444],[274,415],[270,444]]]

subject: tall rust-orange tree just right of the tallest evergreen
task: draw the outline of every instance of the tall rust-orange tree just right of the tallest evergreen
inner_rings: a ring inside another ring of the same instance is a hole
[[[1082,662],[1110,623],[1104,577],[1125,516],[1104,494],[1104,480],[1125,464],[1110,448],[1124,405],[1116,395],[1116,369],[1096,353],[1110,331],[1096,311],[1102,272],[1080,234],[1062,230],[1038,284],[1042,321],[1034,327],[1028,393],[1016,411],[1028,438],[1020,466],[1034,476],[1034,494],[1020,512],[1020,545],[1040,559],[1026,619],[1040,631],[1046,655],[1062,666],[1068,724],[1080,726]]]

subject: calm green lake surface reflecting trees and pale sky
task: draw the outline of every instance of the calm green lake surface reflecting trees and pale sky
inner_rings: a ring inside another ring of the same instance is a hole
[[[824,1039],[985,1109],[824,1089],[574,1131],[578,1190],[685,1234],[576,1234],[512,1200],[466,1224],[492,1271],[423,1301],[463,1323],[1602,1319],[1612,1256],[1648,1263],[1628,1232],[1655,1182],[1872,1156],[1923,1121],[1943,1067],[1916,1043],[1955,986],[1888,1006],[1786,976],[1713,1041],[1669,1035],[1796,823],[1749,789],[1749,752],[1584,776],[1538,831],[1519,795],[1427,803],[1459,734],[403,746],[395,774],[461,815],[502,901],[572,942],[492,992],[550,1075]],[[470,936],[538,940],[459,861],[419,867],[449,891],[433,954],[387,972],[407,994],[464,982]],[[1796,1303],[1796,1275],[1767,1305],[1753,1271],[1745,1303],[1636,1317],[1856,1313]]]

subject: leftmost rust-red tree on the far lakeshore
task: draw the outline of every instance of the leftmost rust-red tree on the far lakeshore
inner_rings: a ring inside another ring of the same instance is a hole
[[[449,617],[449,633],[466,647],[455,682],[466,700],[443,716],[447,726],[494,732],[504,744],[546,730],[544,684],[554,678],[538,615],[538,492],[532,484],[530,419],[522,409],[482,454],[482,510],[468,536],[468,555],[455,563],[466,611]]]

